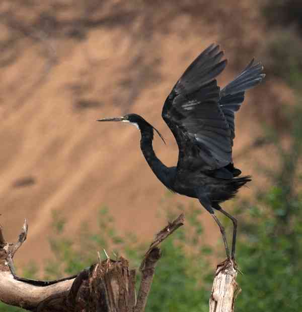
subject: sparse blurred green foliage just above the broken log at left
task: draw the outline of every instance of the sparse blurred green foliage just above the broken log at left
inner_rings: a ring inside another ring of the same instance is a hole
[[[129,251],[133,237],[129,235],[123,238],[116,233],[114,219],[109,215],[106,206],[99,211],[97,220],[99,227],[95,232],[90,231],[87,224],[82,224],[78,234],[71,239],[64,231],[64,218],[57,212],[53,214],[54,235],[50,237],[49,242],[54,257],[49,259],[46,265],[46,279],[77,274],[96,262],[97,251],[104,256],[103,249],[111,250],[112,246],[119,252]]]

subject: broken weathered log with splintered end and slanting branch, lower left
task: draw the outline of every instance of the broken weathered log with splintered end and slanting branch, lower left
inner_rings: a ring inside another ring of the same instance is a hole
[[[17,243],[5,241],[0,227],[0,301],[30,311],[106,311],[143,312],[153,281],[155,267],[161,257],[158,245],[184,223],[179,216],[157,234],[146,252],[137,302],[135,297],[135,270],[129,270],[128,261],[99,261],[80,272],[55,281],[19,278],[15,274],[13,256],[26,240],[28,226],[25,221]]]

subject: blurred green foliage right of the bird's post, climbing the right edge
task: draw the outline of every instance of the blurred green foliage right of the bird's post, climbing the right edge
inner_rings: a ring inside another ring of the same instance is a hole
[[[249,207],[250,219],[238,244],[238,263],[244,275],[237,309],[300,311],[302,306],[302,192],[299,162],[302,152],[302,108],[290,109],[290,146],[275,140],[278,169],[271,172],[274,186],[259,192]],[[244,212],[246,214],[246,211]]]

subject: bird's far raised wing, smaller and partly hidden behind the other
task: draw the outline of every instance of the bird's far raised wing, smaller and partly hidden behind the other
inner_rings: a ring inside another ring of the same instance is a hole
[[[240,109],[244,101],[245,90],[256,86],[265,77],[262,64],[254,64],[254,61],[255,59],[219,94],[219,105],[231,130],[232,146],[235,138],[235,112]]]

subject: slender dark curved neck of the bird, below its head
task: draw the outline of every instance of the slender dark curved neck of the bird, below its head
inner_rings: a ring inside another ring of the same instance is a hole
[[[148,131],[141,131],[140,149],[144,155],[148,165],[158,177],[158,179],[168,188],[171,187],[169,168],[165,166],[154,152],[153,146],[153,129]]]

